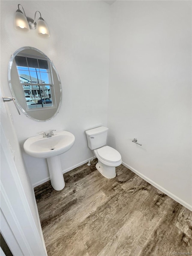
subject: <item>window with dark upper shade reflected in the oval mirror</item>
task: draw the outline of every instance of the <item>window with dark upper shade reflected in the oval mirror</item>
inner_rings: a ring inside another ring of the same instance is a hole
[[[52,74],[46,59],[15,56],[28,109],[53,107]]]

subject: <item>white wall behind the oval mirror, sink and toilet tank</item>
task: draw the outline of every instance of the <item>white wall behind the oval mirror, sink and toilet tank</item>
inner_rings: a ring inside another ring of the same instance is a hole
[[[109,8],[102,1],[20,1],[26,15],[34,18],[40,11],[50,38],[40,38],[36,31],[14,29],[16,1],[1,1],[1,85],[11,96],[7,67],[11,54],[23,46],[38,48],[57,68],[63,88],[63,100],[57,116],[48,122],[36,122],[23,113],[19,116],[9,104],[14,127],[23,152],[24,141],[50,129],[66,130],[75,135],[70,151],[61,155],[63,170],[92,156],[85,130],[107,125],[109,70]],[[32,184],[49,176],[45,159],[23,152]]]

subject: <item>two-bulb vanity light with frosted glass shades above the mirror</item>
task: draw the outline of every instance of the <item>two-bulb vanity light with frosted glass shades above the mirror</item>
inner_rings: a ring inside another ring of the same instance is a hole
[[[44,19],[41,17],[40,11],[35,12],[35,18],[36,18],[37,12],[39,12],[40,14],[38,22],[36,23],[35,18],[33,20],[32,18],[26,17],[26,14],[22,5],[20,6],[22,7],[23,12],[19,9],[19,5],[20,4],[18,4],[18,10],[16,10],[15,17],[14,17],[15,29],[19,31],[24,31],[24,32],[29,32],[30,29],[32,30],[37,29],[37,35],[41,37],[50,37],[49,29]]]

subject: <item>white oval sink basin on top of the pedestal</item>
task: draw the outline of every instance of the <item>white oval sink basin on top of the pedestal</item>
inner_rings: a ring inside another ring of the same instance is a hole
[[[75,136],[68,131],[57,131],[52,137],[42,135],[30,137],[23,145],[28,155],[37,158],[48,158],[68,151],[75,142]]]

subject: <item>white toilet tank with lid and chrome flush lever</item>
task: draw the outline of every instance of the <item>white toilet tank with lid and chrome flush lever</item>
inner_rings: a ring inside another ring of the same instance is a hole
[[[90,149],[98,149],[105,146],[107,143],[108,128],[100,126],[88,131],[85,131],[87,135],[88,147]]]

